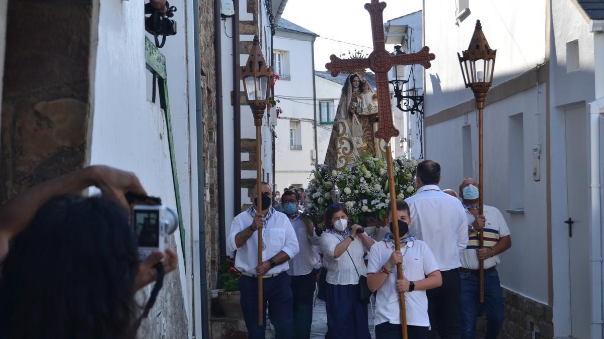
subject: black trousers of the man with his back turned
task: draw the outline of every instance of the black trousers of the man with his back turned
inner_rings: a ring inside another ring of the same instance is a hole
[[[459,302],[461,281],[459,271],[442,271],[443,284],[426,291],[430,331],[428,338],[438,333],[441,339],[460,338]]]

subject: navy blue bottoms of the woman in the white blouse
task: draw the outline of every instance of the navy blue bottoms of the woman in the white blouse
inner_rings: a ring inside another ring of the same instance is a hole
[[[359,284],[327,284],[326,339],[370,339],[367,305],[359,300]]]

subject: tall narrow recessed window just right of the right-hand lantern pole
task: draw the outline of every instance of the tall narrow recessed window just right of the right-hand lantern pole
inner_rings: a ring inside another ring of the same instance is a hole
[[[508,123],[510,210],[524,210],[524,127],[522,113]]]

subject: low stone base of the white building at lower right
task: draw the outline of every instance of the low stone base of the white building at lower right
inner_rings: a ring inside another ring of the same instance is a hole
[[[521,294],[501,288],[506,320],[500,338],[553,338],[552,308]]]

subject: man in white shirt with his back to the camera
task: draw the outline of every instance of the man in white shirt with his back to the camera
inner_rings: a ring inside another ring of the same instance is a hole
[[[467,246],[466,212],[461,202],[443,193],[440,165],[423,160],[417,165],[417,192],[406,198],[413,225],[410,232],[430,247],[443,277],[441,287],[427,291],[431,329],[428,337],[459,338],[461,282],[460,250]]]

